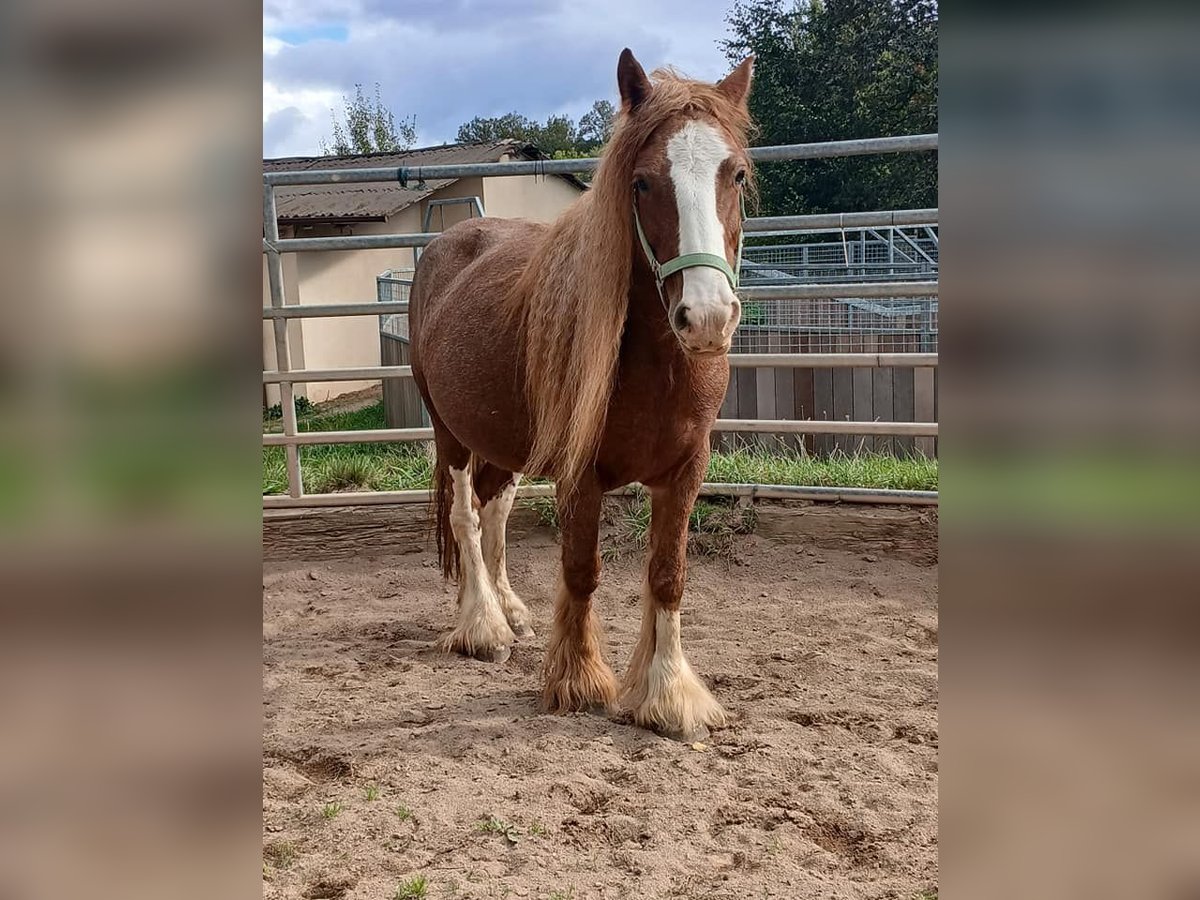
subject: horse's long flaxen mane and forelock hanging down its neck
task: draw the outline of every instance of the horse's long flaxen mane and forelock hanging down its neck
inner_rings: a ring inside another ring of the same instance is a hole
[[[635,110],[623,106],[592,188],[546,233],[509,295],[520,316],[533,444],[524,469],[569,497],[595,461],[612,397],[632,270],[631,182],[637,154],[676,115],[709,116],[742,145],[740,104],[668,68]]]

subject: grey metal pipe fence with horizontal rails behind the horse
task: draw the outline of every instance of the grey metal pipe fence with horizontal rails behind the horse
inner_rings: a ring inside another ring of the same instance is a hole
[[[859,156],[868,154],[886,152],[913,152],[930,151],[937,149],[936,134],[918,134],[895,138],[875,138],[869,140],[842,140],[823,144],[792,144],[785,146],[754,148],[750,156],[755,161],[781,161],[781,160],[814,160],[835,156]],[[401,316],[408,312],[407,298],[397,294],[395,299],[377,302],[362,304],[329,304],[329,305],[286,305],[283,284],[283,253],[336,251],[336,250],[374,250],[394,247],[421,247],[437,238],[437,234],[388,234],[388,235],[347,235],[337,238],[298,238],[281,240],[278,230],[278,217],[276,215],[275,188],[281,185],[312,185],[312,184],[342,184],[342,182],[370,182],[370,181],[421,181],[424,179],[457,179],[476,176],[510,176],[510,175],[552,175],[569,174],[578,172],[590,172],[595,168],[598,160],[536,160],[522,162],[499,163],[469,163],[458,166],[426,166],[426,167],[401,167],[378,169],[337,169],[337,170],[306,170],[306,172],[272,172],[263,175],[263,220],[264,240],[263,252],[266,254],[268,283],[270,289],[270,306],[263,308],[263,318],[271,322],[275,338],[275,354],[277,368],[263,372],[264,384],[278,384],[281,404],[283,410],[282,433],[266,433],[263,436],[264,446],[283,446],[287,460],[287,496],[264,496],[263,505],[266,509],[277,508],[304,508],[304,506],[334,506],[355,504],[379,504],[379,503],[412,503],[427,502],[428,491],[362,491],[334,494],[306,494],[300,470],[300,448],[314,444],[344,444],[344,443],[390,443],[403,440],[430,440],[433,437],[432,428],[382,428],[376,431],[320,431],[300,432],[296,421],[296,412],[293,398],[293,384],[311,382],[350,382],[365,379],[391,379],[409,378],[412,368],[407,365],[390,366],[364,366],[353,368],[334,370],[293,370],[290,366],[290,354],[288,350],[288,319],[293,318],[322,318],[341,316],[379,316],[380,326],[403,328],[402,319],[389,319],[388,317]],[[751,218],[745,223],[748,238],[750,235],[778,235],[812,233],[828,230],[830,228],[845,229],[896,229],[912,226],[936,226],[937,210],[899,210],[882,212],[859,212],[845,215],[815,215],[815,216],[774,216]],[[863,242],[862,240],[859,241]],[[936,242],[936,238],[935,238]],[[752,253],[751,253],[752,256]],[[851,258],[846,250],[844,263],[847,266],[846,274],[851,274]],[[859,260],[859,268],[868,262],[864,256]],[[802,259],[803,263],[803,259]],[[930,274],[935,270],[931,269]],[[912,280],[918,277],[919,280]],[[397,282],[402,280],[396,278]],[[396,286],[403,290],[402,284]],[[746,284],[739,292],[744,307],[754,308],[760,304],[763,310],[779,307],[779,304],[796,304],[796,310],[814,308],[814,304],[838,301],[841,311],[847,317],[857,314],[859,317],[875,317],[883,322],[894,322],[898,318],[922,316],[924,312],[898,312],[902,311],[904,304],[919,306],[919,302],[929,304],[937,296],[937,282],[934,278],[922,277],[922,274],[910,274],[908,278],[888,277],[884,281],[868,280],[862,276],[852,282],[836,283],[806,283],[802,278],[766,278],[758,281],[748,278]],[[851,306],[853,301],[859,306]],[[820,307],[815,307],[820,308]],[[829,307],[832,311],[835,307]],[[925,322],[932,322],[932,334],[936,335],[936,305],[930,306],[932,319],[925,316]],[[767,313],[769,314],[769,313]],[[832,322],[830,312],[824,319],[821,313],[814,313],[811,323],[814,328],[828,328]],[[847,318],[848,320],[848,318]],[[748,329],[761,325],[749,324]],[[926,325],[926,331],[929,326]],[[748,331],[748,334],[750,334]],[[810,350],[812,348],[810,347]],[[931,350],[905,349],[893,352],[887,348],[875,350],[833,350],[817,349],[806,353],[770,353],[749,352],[733,353],[730,356],[730,365],[734,368],[742,367],[797,367],[797,368],[931,368],[937,365],[936,353]],[[821,436],[900,436],[900,437],[935,437],[937,424],[929,422],[898,422],[889,420],[875,421],[842,421],[842,420],[784,420],[784,419],[718,419],[714,431],[740,432],[740,433],[768,433],[768,434],[821,434]],[[521,488],[524,496],[546,496],[552,493],[548,486],[526,486]],[[779,485],[704,485],[702,493],[716,493],[725,496],[758,496],[758,497],[793,497],[806,499],[839,499],[842,502],[868,502],[868,503],[936,503],[937,493],[934,491],[882,491],[866,488],[844,487],[804,487],[804,486],[779,486]]]

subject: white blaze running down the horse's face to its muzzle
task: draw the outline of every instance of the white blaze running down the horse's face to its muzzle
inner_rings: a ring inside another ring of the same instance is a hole
[[[716,214],[716,172],[732,150],[708,122],[691,120],[667,140],[667,161],[679,210],[679,256],[725,256],[725,226]],[[698,330],[728,324],[733,292],[725,275],[707,265],[683,270],[683,300]]]

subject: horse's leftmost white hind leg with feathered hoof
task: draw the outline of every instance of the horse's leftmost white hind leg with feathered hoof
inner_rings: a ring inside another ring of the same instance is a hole
[[[484,562],[475,490],[466,469],[450,469],[454,478],[454,506],[450,526],[458,541],[458,619],[454,631],[442,638],[442,647],[470,656],[500,662],[508,659],[512,630],[504,618],[500,599]]]

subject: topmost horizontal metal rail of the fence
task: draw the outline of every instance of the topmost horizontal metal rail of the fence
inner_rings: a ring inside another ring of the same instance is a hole
[[[788,160],[824,160],[833,156],[868,156],[870,154],[908,154],[937,150],[937,134],[906,134],[864,140],[827,140],[815,144],[784,144],[752,146],[755,162]],[[349,185],[368,181],[440,181],[456,178],[494,178],[497,175],[571,175],[592,172],[600,164],[596,157],[584,160],[523,160],[514,162],[474,162],[451,166],[391,166],[376,169],[311,169],[308,172],[268,172],[263,184],[282,185]]]

